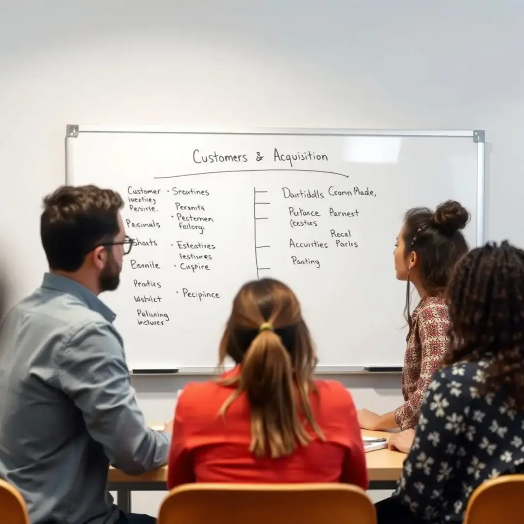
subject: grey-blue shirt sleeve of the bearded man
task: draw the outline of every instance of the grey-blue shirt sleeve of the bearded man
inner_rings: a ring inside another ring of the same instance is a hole
[[[124,348],[111,325],[93,322],[56,354],[58,382],[82,412],[91,438],[129,475],[166,464],[169,435],[147,427]]]

